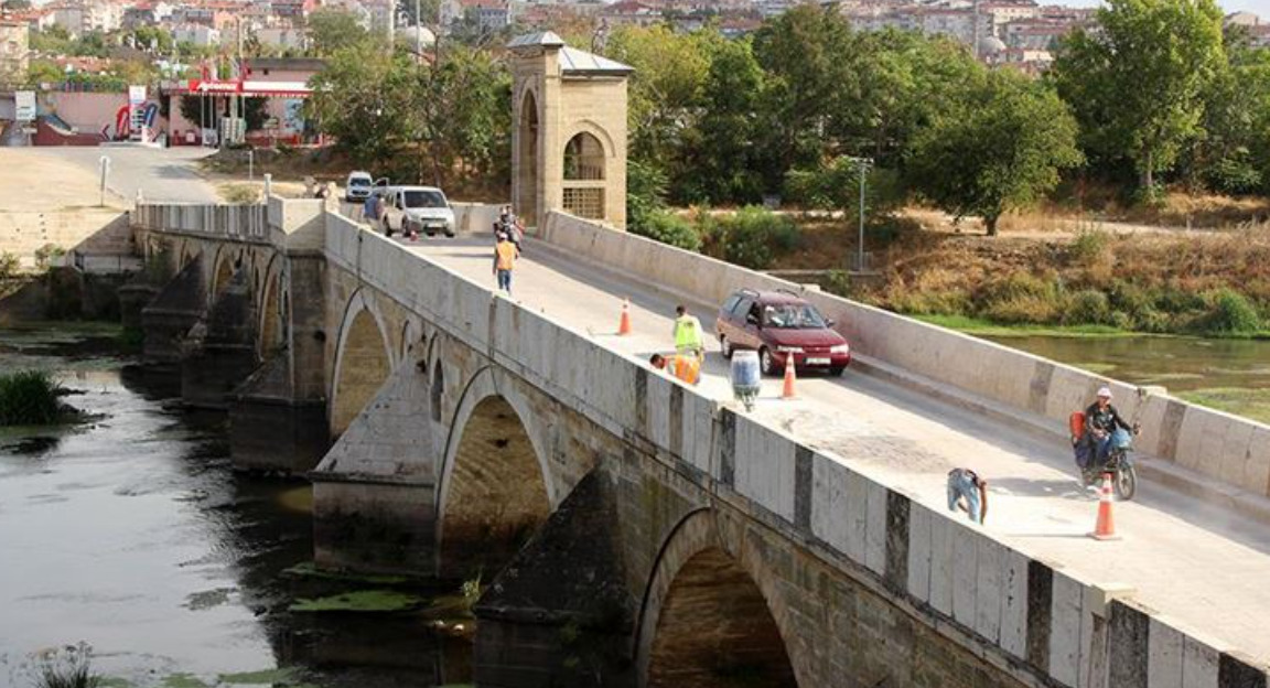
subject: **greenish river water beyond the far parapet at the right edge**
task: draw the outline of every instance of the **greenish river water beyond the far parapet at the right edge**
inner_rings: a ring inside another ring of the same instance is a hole
[[[1134,385],[1270,423],[1270,340],[1191,336],[987,336]]]

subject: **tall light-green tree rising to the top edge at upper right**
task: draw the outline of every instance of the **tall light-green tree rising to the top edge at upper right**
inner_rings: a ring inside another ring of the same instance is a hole
[[[1076,30],[1050,70],[1099,161],[1126,159],[1147,194],[1200,133],[1203,90],[1222,63],[1215,0],[1107,0],[1096,30]]]

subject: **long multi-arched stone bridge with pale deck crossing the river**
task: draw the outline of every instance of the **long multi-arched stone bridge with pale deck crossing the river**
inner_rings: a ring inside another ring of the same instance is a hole
[[[559,212],[517,300],[488,237],[392,241],[318,201],[133,225],[147,362],[229,410],[239,467],[312,480],[320,565],[488,583],[480,685],[1266,685],[1266,548],[1231,526],[1265,500],[1262,425],[1114,383],[1170,496],[1121,505],[1123,547],[1022,532],[1092,523],[1027,491],[1102,382],[1074,368],[806,292],[860,372],[747,414],[721,362],[687,387],[643,361],[676,301],[796,284]],[[622,297],[639,336],[611,334]],[[1013,485],[988,527],[942,508],[949,454]]]

